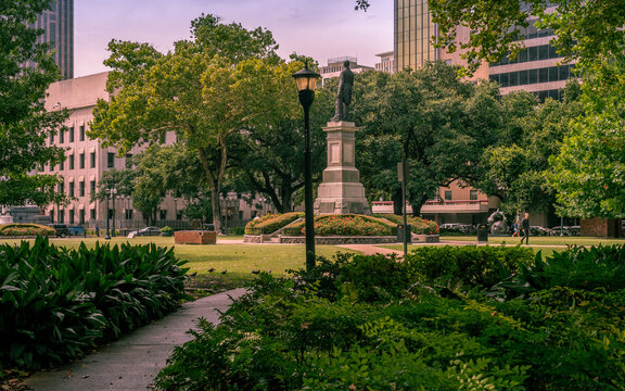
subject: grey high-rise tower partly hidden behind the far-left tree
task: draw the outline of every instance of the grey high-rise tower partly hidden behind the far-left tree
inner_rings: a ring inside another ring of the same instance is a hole
[[[49,42],[64,79],[74,77],[74,0],[54,0],[33,27],[43,29],[38,42]]]

